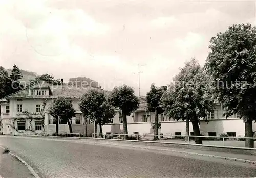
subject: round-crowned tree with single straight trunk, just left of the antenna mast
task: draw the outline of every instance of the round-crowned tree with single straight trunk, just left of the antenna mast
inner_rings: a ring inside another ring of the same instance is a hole
[[[108,98],[110,104],[122,110],[123,130],[125,139],[128,138],[127,117],[139,108],[139,98],[135,96],[134,89],[127,85],[115,87]]]

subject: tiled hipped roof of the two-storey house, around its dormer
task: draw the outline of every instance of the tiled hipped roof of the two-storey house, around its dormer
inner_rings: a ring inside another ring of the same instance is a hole
[[[65,97],[67,99],[79,99],[84,93],[87,93],[90,89],[89,87],[78,87],[78,86],[68,86],[68,85],[50,85],[48,83],[38,83],[36,88],[46,88],[49,87],[49,96],[29,96],[29,87],[20,90],[16,93],[10,94],[5,98],[58,98]],[[33,88],[33,87],[30,87]],[[94,88],[96,89],[96,88]],[[101,89],[96,89],[101,90]],[[103,90],[106,94],[110,91]]]

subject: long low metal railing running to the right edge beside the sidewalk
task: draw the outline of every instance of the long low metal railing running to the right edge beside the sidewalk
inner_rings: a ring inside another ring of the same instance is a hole
[[[195,144],[196,138],[201,138],[203,145],[225,146],[225,147],[245,147],[245,140],[254,141],[256,149],[256,137],[229,137],[229,136],[195,136],[195,135],[154,135],[154,134],[92,134],[92,139],[115,139],[134,141],[152,141],[161,143],[189,143]],[[154,136],[158,136],[158,140],[154,140]]]

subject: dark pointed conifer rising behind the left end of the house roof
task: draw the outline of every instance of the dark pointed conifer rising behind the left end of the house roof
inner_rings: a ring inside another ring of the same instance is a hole
[[[20,72],[18,66],[16,66],[14,64],[12,71],[11,71],[11,75],[10,75],[10,79],[12,81],[12,93],[19,91],[20,89],[23,88],[23,86],[20,85],[19,80],[22,79],[23,75]]]

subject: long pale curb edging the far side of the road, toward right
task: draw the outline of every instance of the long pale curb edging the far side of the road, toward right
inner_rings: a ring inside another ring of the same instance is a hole
[[[152,148],[152,147],[138,147],[138,146],[130,146],[130,145],[124,145],[124,144],[93,143],[93,142],[90,142],[90,143],[92,143],[92,144],[115,145],[115,146],[127,146],[127,147],[142,148],[142,149],[153,149],[153,150],[158,150],[158,151],[160,150],[160,151],[169,151],[169,152],[179,152],[179,153],[187,154],[187,155],[197,155],[197,156],[219,158],[219,159],[230,160],[230,161],[238,161],[238,162],[242,162],[242,163],[256,164],[256,161],[252,161],[252,160],[245,160],[245,159],[232,158],[232,157],[222,157],[222,156],[217,156],[217,155],[199,154],[197,152],[177,151],[177,150],[171,150],[171,149],[158,149],[158,148]]]

